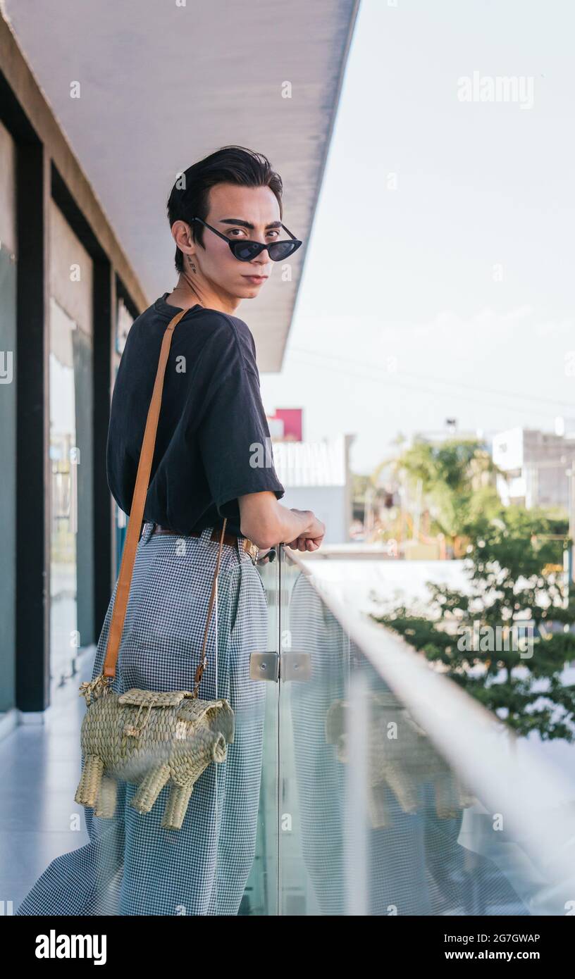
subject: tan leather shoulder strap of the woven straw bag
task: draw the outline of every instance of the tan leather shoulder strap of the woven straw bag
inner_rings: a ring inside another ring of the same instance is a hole
[[[127,524],[127,531],[123,543],[123,551],[121,554],[121,564],[120,564],[120,576],[118,579],[118,587],[116,589],[116,598],[114,600],[114,612],[112,613],[112,622],[110,623],[110,632],[108,635],[108,646],[106,649],[106,659],[104,661],[104,671],[103,676],[110,677],[109,682],[116,676],[116,664],[118,662],[118,652],[120,650],[120,639],[121,633],[123,631],[123,624],[125,620],[125,611],[127,608],[127,600],[129,596],[129,588],[132,580],[132,572],[134,569],[134,561],[136,559],[136,549],[138,546],[138,541],[140,539],[140,534],[142,531],[142,519],[144,516],[144,507],[146,504],[146,494],[148,492],[148,485],[150,483],[150,473],[152,471],[152,462],[154,459],[154,448],[156,446],[156,433],[158,431],[158,420],[160,418],[160,407],[162,405],[162,392],[164,390],[164,377],[166,374],[166,365],[168,363],[168,353],[171,345],[171,338],[173,336],[173,330],[180,319],[187,312],[187,309],[180,309],[178,313],[171,319],[166,327],[166,333],[162,339],[162,349],[160,350],[160,361],[158,363],[158,370],[156,372],[156,381],[154,382],[154,391],[152,393],[152,400],[150,401],[150,407],[148,408],[148,417],[146,419],[146,428],[144,431],[144,440],[142,443],[142,448],[140,451],[140,459],[138,462],[138,471],[136,474],[136,483],[134,487],[134,494],[132,497],[132,505],[129,513],[129,520]],[[219,547],[217,550],[217,561],[216,561],[216,571],[214,573],[214,582],[212,583],[212,594],[210,595],[210,605],[208,609],[208,620],[206,622],[206,629],[204,632],[204,645],[202,646],[202,660],[198,669],[196,670],[195,685],[194,685],[194,695],[198,695],[198,686],[206,666],[206,643],[208,641],[208,631],[210,629],[210,619],[212,617],[212,609],[214,607],[214,601],[216,598],[216,587],[217,587],[217,573],[219,571],[219,558],[221,555],[221,545],[223,543],[223,535],[225,534],[225,525],[227,518],[223,520],[223,526],[221,528],[221,536],[219,538]]]

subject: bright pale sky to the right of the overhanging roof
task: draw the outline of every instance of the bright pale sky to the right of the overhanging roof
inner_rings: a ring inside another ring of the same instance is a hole
[[[262,374],[306,440],[356,435],[354,472],[447,418],[575,431],[574,26],[570,0],[361,0],[283,369]]]

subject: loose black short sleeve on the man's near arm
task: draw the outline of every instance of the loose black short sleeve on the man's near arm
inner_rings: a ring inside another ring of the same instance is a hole
[[[228,335],[211,364],[213,381],[198,428],[208,484],[221,517],[239,518],[238,496],[285,489],[274,465],[257,368]]]

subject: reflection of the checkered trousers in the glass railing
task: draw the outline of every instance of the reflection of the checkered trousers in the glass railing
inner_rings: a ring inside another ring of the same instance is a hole
[[[366,824],[365,836],[357,835],[346,809],[350,768],[338,761],[325,737],[327,711],[347,697],[352,671],[364,674],[369,689],[387,687],[304,575],[294,583],[289,613],[293,648],[311,661],[310,680],[288,684],[288,692],[302,856],[319,912],[346,913],[349,865],[359,858],[357,837],[358,846],[364,839],[367,847],[367,913],[389,914],[395,906],[401,914],[429,914],[421,816],[403,813],[390,793],[392,824],[383,830]]]

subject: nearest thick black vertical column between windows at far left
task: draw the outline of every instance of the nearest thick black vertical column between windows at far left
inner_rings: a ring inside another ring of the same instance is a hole
[[[39,142],[17,145],[16,706],[50,700],[48,562],[49,160]]]

